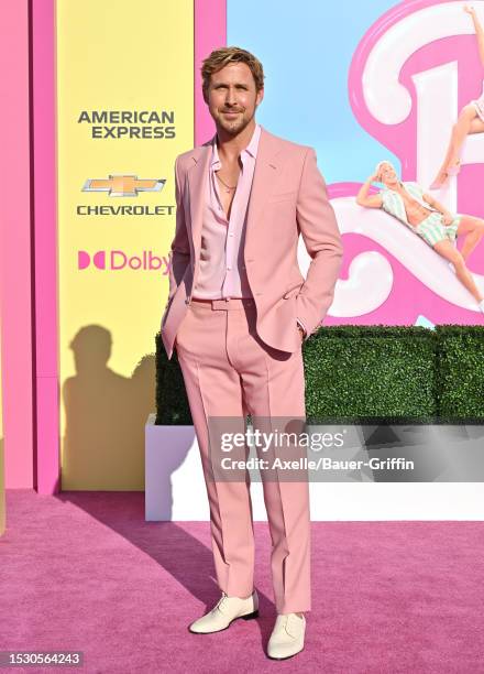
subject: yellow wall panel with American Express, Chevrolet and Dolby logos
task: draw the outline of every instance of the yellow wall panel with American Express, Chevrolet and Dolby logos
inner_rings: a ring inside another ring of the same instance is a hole
[[[194,144],[194,8],[56,11],[62,487],[141,490],[173,166]]]

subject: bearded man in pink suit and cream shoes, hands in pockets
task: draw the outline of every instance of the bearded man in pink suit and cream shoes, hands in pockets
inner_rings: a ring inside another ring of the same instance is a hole
[[[213,480],[209,421],[305,417],[302,340],[334,292],[342,246],[311,148],[255,121],[262,64],[239,47],[212,52],[202,89],[217,133],[176,160],[176,231],[162,338],[176,348],[200,448],[221,597],[189,626],[223,630],[257,616],[250,480]],[[297,263],[299,233],[311,257]],[[261,474],[263,471],[261,470]],[[304,648],[310,602],[309,485],[264,480],[277,618],[267,655]]]

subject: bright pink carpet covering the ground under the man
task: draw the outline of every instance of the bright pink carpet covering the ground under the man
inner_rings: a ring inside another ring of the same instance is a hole
[[[219,598],[209,524],[146,523],[143,498],[8,492],[0,650],[81,650],[68,671],[89,674],[484,672],[484,523],[315,523],[306,649],[276,662],[266,524],[258,620],[195,635],[188,623]]]

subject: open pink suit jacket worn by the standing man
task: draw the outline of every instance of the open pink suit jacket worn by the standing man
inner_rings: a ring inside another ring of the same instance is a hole
[[[210,157],[211,141],[180,154],[175,163],[176,230],[162,318],[168,359],[197,283]],[[299,233],[311,258],[306,280],[297,263]],[[257,335],[268,346],[293,354],[300,348],[297,318],[309,336],[331,305],[342,244],[312,148],[273,135],[263,127],[243,256],[256,306]]]

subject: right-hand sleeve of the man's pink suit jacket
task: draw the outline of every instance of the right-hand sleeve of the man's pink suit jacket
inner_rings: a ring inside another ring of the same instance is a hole
[[[309,336],[331,306],[343,254],[334,210],[312,148],[308,148],[304,160],[296,218],[311,258],[306,281],[296,297],[296,315]]]

